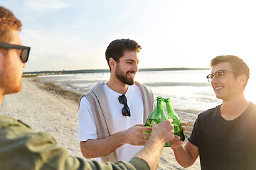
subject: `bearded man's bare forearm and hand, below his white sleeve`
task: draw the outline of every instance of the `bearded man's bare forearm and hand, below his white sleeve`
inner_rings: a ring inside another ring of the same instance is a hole
[[[80,142],[82,155],[87,159],[103,157],[126,143],[130,145],[144,145],[146,140],[148,140],[144,137],[150,137],[151,135],[150,133],[143,133],[144,131],[151,131],[151,128],[138,124],[128,130],[114,133],[100,140]]]

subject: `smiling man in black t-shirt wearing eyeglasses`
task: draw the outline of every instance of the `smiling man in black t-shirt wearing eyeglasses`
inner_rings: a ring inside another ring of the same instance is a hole
[[[181,166],[191,166],[200,156],[201,169],[256,169],[256,106],[245,99],[249,67],[233,55],[215,57],[206,78],[220,106],[198,115],[184,147],[171,142]]]

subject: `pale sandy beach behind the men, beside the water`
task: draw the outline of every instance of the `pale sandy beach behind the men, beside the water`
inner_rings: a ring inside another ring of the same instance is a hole
[[[6,95],[0,113],[23,120],[36,131],[46,131],[68,149],[70,155],[82,157],[77,141],[78,91],[68,91],[60,86],[38,81],[40,78],[23,78],[23,90]],[[186,137],[191,133],[188,125]],[[179,166],[172,149],[165,147],[158,169],[184,169]],[[199,159],[187,169],[200,169]]]

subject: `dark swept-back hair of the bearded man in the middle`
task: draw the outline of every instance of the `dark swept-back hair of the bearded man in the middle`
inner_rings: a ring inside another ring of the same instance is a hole
[[[119,62],[119,59],[124,56],[124,52],[134,51],[139,52],[142,47],[135,42],[134,40],[129,39],[118,39],[110,42],[110,45],[107,47],[105,52],[107,64],[110,67],[110,57],[114,59],[114,61]],[[110,68],[111,69],[111,68]]]

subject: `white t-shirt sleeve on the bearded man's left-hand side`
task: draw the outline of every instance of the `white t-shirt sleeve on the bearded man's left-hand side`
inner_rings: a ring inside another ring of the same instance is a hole
[[[78,141],[97,139],[97,129],[92,115],[92,108],[85,96],[80,101],[78,114]]]

